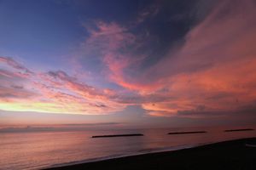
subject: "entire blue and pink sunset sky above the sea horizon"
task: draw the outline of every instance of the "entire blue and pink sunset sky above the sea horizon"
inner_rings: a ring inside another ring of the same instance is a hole
[[[254,0],[0,0],[0,125],[256,122]]]

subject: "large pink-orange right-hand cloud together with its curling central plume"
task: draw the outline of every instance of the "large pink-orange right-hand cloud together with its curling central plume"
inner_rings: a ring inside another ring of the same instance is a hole
[[[252,1],[219,2],[188,32],[183,46],[171,48],[159,63],[134,77],[129,71],[139,71],[145,56],[131,54],[127,47],[139,44],[124,26],[98,22],[84,46],[101,52],[110,82],[135,92],[132,98],[113,95],[118,103],[142,105],[152,116],[201,112],[201,105],[204,111],[235,111],[256,98],[254,6]]]

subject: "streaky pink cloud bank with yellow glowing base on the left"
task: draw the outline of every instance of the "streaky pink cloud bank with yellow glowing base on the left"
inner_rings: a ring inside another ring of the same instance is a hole
[[[26,67],[11,58],[1,57],[1,62],[1,110],[98,115],[125,108],[110,100],[113,90],[89,86],[64,71],[30,71],[23,77]]]

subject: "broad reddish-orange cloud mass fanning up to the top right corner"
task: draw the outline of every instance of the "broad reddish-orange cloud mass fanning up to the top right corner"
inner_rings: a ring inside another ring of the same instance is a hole
[[[183,47],[147,73],[153,80],[161,80],[161,87],[176,99],[144,108],[155,116],[172,116],[173,112],[195,111],[198,105],[218,112],[255,105],[254,8],[255,3],[249,0],[220,2],[189,31]]]

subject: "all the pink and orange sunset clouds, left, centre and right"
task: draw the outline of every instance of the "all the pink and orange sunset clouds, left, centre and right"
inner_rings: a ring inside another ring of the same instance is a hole
[[[91,85],[68,71],[31,71],[0,57],[0,109],[101,115],[140,105],[150,116],[188,117],[246,110],[256,104],[255,5],[253,0],[219,1],[183,43],[170,45],[149,66],[150,35],[134,25],[97,20],[85,26],[88,37],[77,63],[83,67],[96,58],[99,77],[112,88]],[[158,14],[160,8],[153,7],[137,16],[137,26]]]

